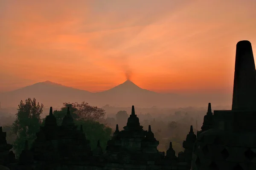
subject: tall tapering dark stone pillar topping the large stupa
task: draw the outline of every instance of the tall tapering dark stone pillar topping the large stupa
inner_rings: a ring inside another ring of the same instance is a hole
[[[236,44],[232,110],[256,110],[256,71],[249,41],[239,41]]]

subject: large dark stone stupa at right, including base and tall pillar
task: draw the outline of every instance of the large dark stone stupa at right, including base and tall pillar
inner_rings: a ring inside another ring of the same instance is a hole
[[[192,155],[192,170],[256,170],[256,70],[249,41],[236,45],[231,111],[208,106]]]

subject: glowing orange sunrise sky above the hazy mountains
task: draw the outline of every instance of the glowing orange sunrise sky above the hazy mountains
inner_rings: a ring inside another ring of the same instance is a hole
[[[152,91],[230,92],[236,43],[256,51],[255,9],[255,0],[2,0],[0,91],[49,80],[96,92],[129,73]]]

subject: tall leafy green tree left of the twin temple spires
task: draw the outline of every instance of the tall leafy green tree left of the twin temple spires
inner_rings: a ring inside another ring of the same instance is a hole
[[[21,100],[18,105],[16,120],[12,124],[13,133],[17,138],[13,143],[16,156],[24,149],[24,143],[28,140],[29,146],[36,138],[36,133],[41,126],[40,115],[43,113],[44,105],[36,103],[36,99],[28,98],[25,103]]]

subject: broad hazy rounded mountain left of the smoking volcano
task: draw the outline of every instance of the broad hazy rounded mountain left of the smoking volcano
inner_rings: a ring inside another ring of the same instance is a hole
[[[17,106],[20,100],[35,98],[46,106],[62,106],[63,102],[81,102],[91,97],[89,91],[67,87],[58,83],[38,82],[15,91],[0,94],[3,106]]]

